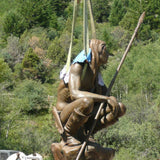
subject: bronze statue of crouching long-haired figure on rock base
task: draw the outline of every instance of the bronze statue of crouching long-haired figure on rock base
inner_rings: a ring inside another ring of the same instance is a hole
[[[118,121],[126,112],[126,107],[113,96],[107,97],[107,87],[100,75],[100,66],[106,64],[109,53],[105,42],[90,41],[90,52],[82,52],[73,61],[68,73],[63,75],[58,87],[56,108],[60,111],[60,121],[64,127],[61,143],[52,144],[57,160],[76,159],[76,155],[90,131],[99,104],[105,102],[93,134]],[[103,148],[90,138],[81,159],[110,160],[114,150]],[[108,158],[107,158],[108,157]]]

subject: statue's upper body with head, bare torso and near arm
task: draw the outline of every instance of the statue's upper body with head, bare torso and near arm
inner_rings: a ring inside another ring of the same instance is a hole
[[[106,64],[108,60],[109,54],[106,51],[105,42],[93,39],[90,48],[92,50],[91,61],[72,64],[68,84],[61,81],[56,105],[58,110],[63,110],[69,104],[73,109],[75,101],[80,98],[90,98],[94,102],[106,102],[108,99],[104,94],[101,94],[102,86],[99,87],[97,82],[99,67]],[[106,89],[105,85],[103,88]]]

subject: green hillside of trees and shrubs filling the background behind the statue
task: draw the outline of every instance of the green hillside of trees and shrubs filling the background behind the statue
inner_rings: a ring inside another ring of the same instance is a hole
[[[127,113],[95,139],[117,150],[115,160],[160,159],[160,2],[92,0],[92,7],[97,39],[114,54],[101,69],[107,86],[146,12],[112,89]],[[60,135],[51,110],[67,60],[72,12],[69,0],[0,1],[0,149],[53,159],[50,146]],[[72,59],[83,48],[82,32],[81,3]]]

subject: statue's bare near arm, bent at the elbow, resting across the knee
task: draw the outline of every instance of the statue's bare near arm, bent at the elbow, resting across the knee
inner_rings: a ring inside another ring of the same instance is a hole
[[[95,102],[105,102],[109,98],[103,95],[81,91],[81,74],[83,66],[80,64],[74,64],[74,67],[71,67],[70,78],[69,78],[69,90],[72,99],[79,99],[83,97],[93,98]]]

